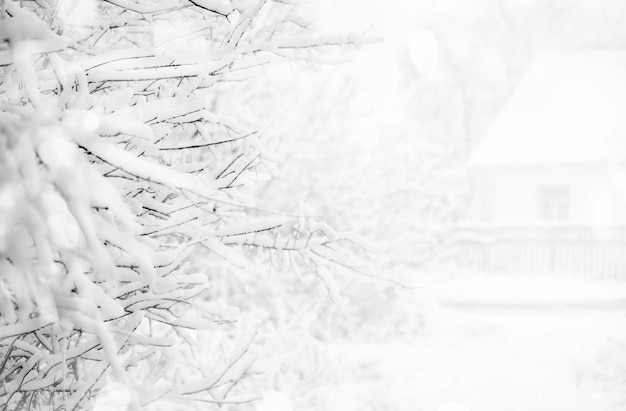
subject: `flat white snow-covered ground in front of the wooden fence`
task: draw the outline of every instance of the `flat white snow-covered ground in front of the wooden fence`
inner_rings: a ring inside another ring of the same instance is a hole
[[[623,411],[626,282],[448,278],[420,335],[335,346],[326,409]]]

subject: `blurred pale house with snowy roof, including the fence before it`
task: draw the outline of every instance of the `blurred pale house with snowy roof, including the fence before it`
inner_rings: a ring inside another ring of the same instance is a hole
[[[626,278],[626,52],[538,56],[470,166],[465,263]]]

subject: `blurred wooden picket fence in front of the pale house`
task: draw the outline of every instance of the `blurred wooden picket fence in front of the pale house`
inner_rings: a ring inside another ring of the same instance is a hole
[[[485,273],[626,279],[626,225],[455,226],[449,257]]]

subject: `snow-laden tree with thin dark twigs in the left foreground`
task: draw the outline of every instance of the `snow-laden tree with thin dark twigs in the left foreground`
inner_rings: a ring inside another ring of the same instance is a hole
[[[358,42],[317,35],[298,3],[3,3],[4,409],[245,409],[271,368],[233,325],[258,264],[340,303],[351,236],[255,203],[280,160],[250,104],[264,71]]]

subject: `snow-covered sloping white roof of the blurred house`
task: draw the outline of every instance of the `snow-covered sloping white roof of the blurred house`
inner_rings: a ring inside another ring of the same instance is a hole
[[[626,161],[626,52],[539,55],[473,165]]]

